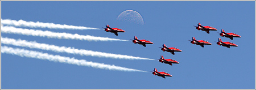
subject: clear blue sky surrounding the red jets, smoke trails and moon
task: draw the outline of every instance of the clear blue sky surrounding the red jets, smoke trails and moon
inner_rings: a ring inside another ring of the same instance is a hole
[[[125,10],[141,14],[144,25],[121,22],[117,16]],[[176,59],[173,66],[149,60],[98,58],[47,50],[42,53],[86,59],[143,71],[166,71],[172,75],[163,79],[151,72],[112,71],[92,67],[50,62],[1,53],[2,89],[254,89],[255,88],[255,2],[4,2],[1,19],[67,24],[92,28],[122,28],[126,32],[107,33],[102,29],[43,31],[77,33],[130,40],[134,36],[147,39],[153,45],[133,44],[131,41],[80,41],[1,33],[2,37],[36,41],[57,46],[74,47],[105,53],[132,55],[156,59]],[[197,31],[193,25],[209,25],[218,31]],[[27,28],[27,27],[22,27]],[[217,32],[234,32],[242,36],[230,40]],[[212,45],[193,45],[188,40],[207,40]],[[214,41],[231,41],[238,47],[226,48]],[[175,55],[163,52],[160,46],[182,50]]]

